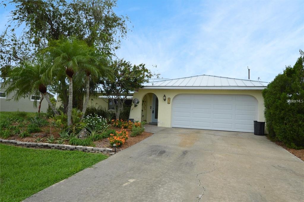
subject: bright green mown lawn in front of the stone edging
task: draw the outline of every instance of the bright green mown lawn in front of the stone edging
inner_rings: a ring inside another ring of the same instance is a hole
[[[21,201],[107,156],[0,144],[0,201]]]

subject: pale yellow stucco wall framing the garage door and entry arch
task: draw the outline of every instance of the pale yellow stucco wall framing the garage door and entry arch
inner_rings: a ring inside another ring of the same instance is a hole
[[[262,97],[262,90],[157,90],[157,89],[139,89],[135,92],[133,99],[137,98],[142,102],[144,96],[147,96],[147,123],[151,121],[152,94],[154,93],[158,98],[158,122],[157,125],[161,127],[171,127],[171,110],[174,97],[178,94],[221,94],[221,95],[251,95],[257,99],[258,111],[257,121],[265,121],[264,119],[264,99]],[[171,98],[171,103],[163,100],[163,96]],[[142,105],[135,107],[131,113],[130,118],[136,121],[142,120]]]

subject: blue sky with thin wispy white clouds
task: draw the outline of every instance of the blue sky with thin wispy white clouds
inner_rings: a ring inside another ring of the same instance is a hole
[[[216,75],[270,82],[304,50],[304,1],[121,1],[130,17],[116,52],[163,78]],[[0,31],[11,7],[0,10]],[[157,65],[157,68],[153,66]]]

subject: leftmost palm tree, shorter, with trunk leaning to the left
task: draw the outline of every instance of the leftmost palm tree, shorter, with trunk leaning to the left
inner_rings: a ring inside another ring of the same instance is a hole
[[[9,71],[8,78],[4,83],[4,85],[7,86],[5,92],[8,94],[14,92],[13,99],[16,102],[18,102],[21,97],[41,94],[40,104],[42,98],[45,98],[53,112],[59,114],[51,103],[47,93],[47,85],[49,84],[49,79],[46,76],[47,68],[47,64],[43,61],[40,61],[40,64],[25,62],[13,68]],[[34,102],[34,105],[37,106],[37,101]]]

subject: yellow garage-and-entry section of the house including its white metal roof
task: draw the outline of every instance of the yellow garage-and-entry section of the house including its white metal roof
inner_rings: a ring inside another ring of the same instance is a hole
[[[199,75],[151,82],[135,92],[130,118],[162,127],[253,132],[264,121],[268,82]]]

